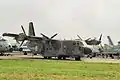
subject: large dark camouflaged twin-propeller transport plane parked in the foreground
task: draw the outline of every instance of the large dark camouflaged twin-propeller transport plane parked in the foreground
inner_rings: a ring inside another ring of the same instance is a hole
[[[37,54],[41,54],[44,58],[58,57],[58,59],[66,59],[66,57],[74,57],[75,60],[80,60],[84,53],[90,53],[91,49],[83,47],[83,43],[79,40],[56,40],[53,39],[57,34],[52,37],[47,37],[42,34],[43,37],[36,37],[33,27],[33,23],[29,23],[29,34],[25,33],[22,27],[23,33],[11,34],[4,33],[3,36],[15,37],[16,41],[22,41],[20,46],[25,40],[28,40],[27,47]]]

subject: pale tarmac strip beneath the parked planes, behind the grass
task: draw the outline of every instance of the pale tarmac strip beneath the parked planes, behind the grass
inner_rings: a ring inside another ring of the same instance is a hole
[[[24,55],[22,52],[6,53],[8,56],[0,56],[0,60],[13,60],[13,59],[30,59],[30,60],[58,60],[57,58],[43,59],[40,55],[32,55],[31,53]],[[75,61],[74,58],[67,58],[68,61]],[[84,62],[102,62],[102,63],[120,63],[120,59],[110,58],[82,58]]]

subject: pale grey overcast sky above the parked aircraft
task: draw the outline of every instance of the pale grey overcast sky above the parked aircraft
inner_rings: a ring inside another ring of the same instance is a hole
[[[28,32],[34,22],[36,35],[44,33],[57,39],[99,37],[120,40],[120,0],[0,0],[0,33]]]

